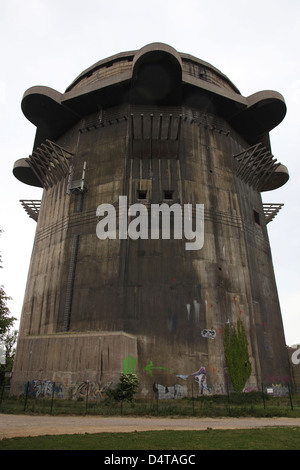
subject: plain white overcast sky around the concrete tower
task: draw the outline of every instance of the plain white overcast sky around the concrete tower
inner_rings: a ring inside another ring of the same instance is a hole
[[[243,96],[269,89],[286,100],[271,143],[290,180],[263,199],[285,204],[268,231],[286,342],[300,342],[299,0],[0,0],[0,284],[13,297],[11,315],[20,318],[36,229],[19,199],[41,198],[12,174],[35,136],[23,93],[34,85],[64,92],[98,60],[151,42],[211,63]]]

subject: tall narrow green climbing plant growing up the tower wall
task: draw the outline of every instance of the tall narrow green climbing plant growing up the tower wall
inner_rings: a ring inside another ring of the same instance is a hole
[[[224,351],[227,370],[235,392],[242,392],[252,371],[245,328],[239,319],[236,327],[225,325]]]

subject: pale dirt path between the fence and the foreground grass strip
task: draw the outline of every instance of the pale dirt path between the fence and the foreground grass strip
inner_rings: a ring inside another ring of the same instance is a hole
[[[300,426],[300,418],[139,418],[0,414],[0,439],[20,436]]]

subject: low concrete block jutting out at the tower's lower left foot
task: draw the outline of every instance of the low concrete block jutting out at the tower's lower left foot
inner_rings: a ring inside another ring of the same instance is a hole
[[[61,333],[18,340],[11,395],[49,395],[55,382],[60,398],[86,393],[100,397],[119,381],[122,371],[135,370],[137,338],[124,332]],[[48,389],[48,391],[47,391]]]

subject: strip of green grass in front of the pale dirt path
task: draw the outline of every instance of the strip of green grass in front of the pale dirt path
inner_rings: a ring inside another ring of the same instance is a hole
[[[144,431],[2,439],[0,450],[299,450],[300,427]]]

